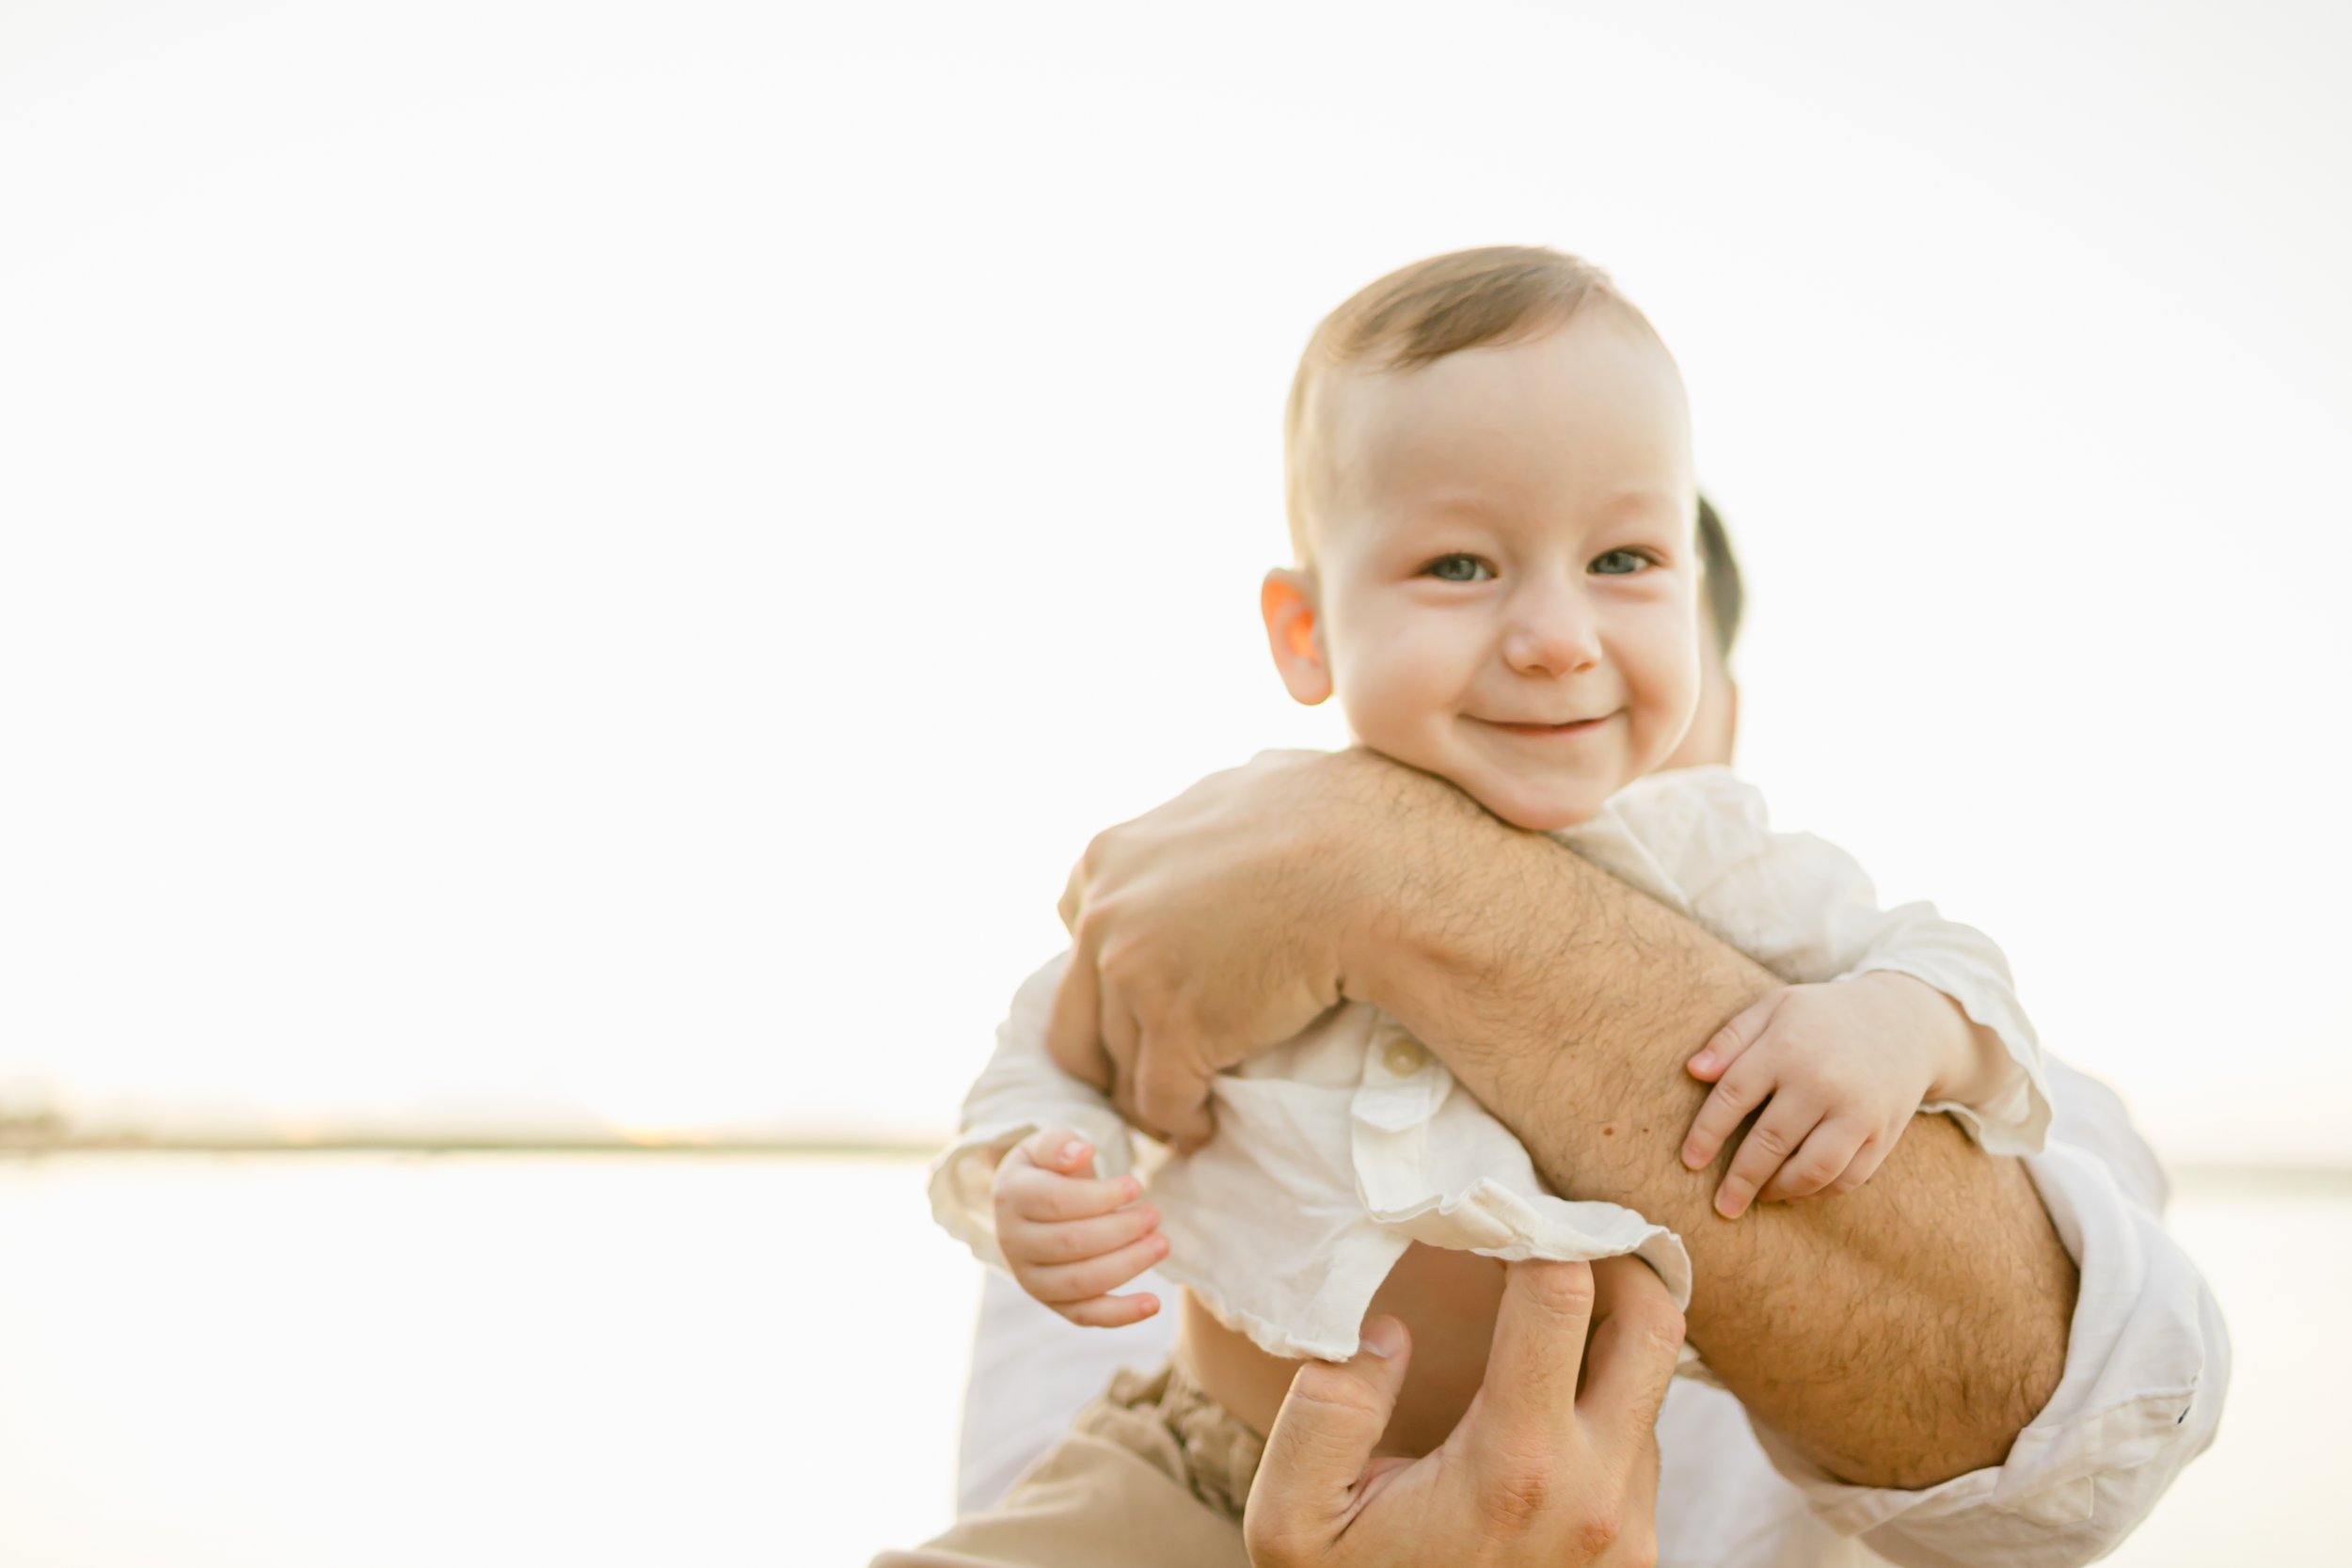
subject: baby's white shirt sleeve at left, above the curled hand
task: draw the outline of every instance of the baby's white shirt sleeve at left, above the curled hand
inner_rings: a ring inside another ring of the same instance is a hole
[[[1070,954],[1047,961],[1014,992],[1011,1011],[997,1025],[997,1048],[964,1095],[957,1138],[931,1161],[931,1218],[971,1248],[981,1262],[1002,1269],[995,1204],[997,1161],[1035,1131],[1068,1126],[1094,1145],[1094,1173],[1127,1175],[1134,1143],[1117,1107],[1084,1079],[1063,1072],[1044,1048],[1054,1016],[1054,990]]]

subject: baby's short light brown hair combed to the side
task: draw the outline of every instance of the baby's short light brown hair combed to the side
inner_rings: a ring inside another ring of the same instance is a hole
[[[1282,421],[1284,501],[1298,564],[1315,559],[1308,522],[1329,489],[1315,395],[1331,371],[1404,371],[1465,348],[1517,343],[1566,324],[1595,301],[1656,336],[1606,273],[1536,244],[1489,244],[1416,261],[1357,289],[1327,315],[1298,355]]]

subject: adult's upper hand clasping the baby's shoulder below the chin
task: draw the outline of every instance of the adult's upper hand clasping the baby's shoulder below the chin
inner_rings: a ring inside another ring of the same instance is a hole
[[[1096,835],[1061,898],[1054,1060],[1145,1133],[1207,1140],[1209,1079],[1345,997],[1367,844],[1423,792],[1468,806],[1371,752],[1261,752]]]

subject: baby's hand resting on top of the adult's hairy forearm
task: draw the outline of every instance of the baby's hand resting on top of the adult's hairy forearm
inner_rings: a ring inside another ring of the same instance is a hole
[[[1940,1039],[1917,1025],[1917,997],[1896,987],[1940,1001],[1893,973],[1790,985],[1726,1023],[1689,1060],[1691,1077],[1715,1084],[1682,1143],[1682,1164],[1693,1171],[1764,1105],[1715,1190],[1719,1215],[1736,1220],[1750,1201],[1853,1192],[1877,1173],[1929,1100],[1940,1065]]]

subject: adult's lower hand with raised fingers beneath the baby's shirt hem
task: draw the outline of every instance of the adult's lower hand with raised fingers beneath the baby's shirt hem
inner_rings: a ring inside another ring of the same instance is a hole
[[[1649,1267],[1510,1265],[1486,1382],[1418,1460],[1371,1458],[1404,1385],[1404,1326],[1374,1319],[1364,1342],[1378,1349],[1301,1368],[1275,1415],[1242,1519],[1256,1568],[1656,1561],[1656,1425],[1682,1314]]]

